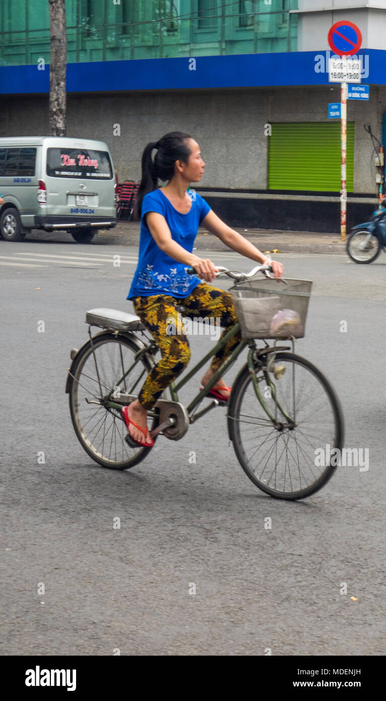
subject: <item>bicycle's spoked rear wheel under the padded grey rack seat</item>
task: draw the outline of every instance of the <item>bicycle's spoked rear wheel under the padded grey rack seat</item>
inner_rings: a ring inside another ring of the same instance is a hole
[[[142,461],[151,450],[132,448],[127,444],[123,414],[120,409],[103,404],[103,398],[113,388],[116,388],[116,393],[118,390],[127,394],[139,393],[152,367],[145,355],[118,386],[118,381],[133,364],[138,350],[139,346],[125,336],[106,333],[96,336],[92,345],[91,342],[86,343],[76,356],[72,371],[74,379],[69,391],[71,421],[86,453],[104,468],[127,470]],[[153,418],[149,430],[156,426],[158,416]]]

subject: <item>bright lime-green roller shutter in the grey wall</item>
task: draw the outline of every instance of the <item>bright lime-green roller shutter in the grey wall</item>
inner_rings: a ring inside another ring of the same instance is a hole
[[[340,122],[274,123],[268,189],[340,191]],[[347,122],[347,192],[354,189],[354,122]]]

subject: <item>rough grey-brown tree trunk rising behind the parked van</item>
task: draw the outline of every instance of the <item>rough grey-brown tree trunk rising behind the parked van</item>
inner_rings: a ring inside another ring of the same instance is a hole
[[[65,0],[48,0],[50,8],[50,136],[66,136],[67,32]]]

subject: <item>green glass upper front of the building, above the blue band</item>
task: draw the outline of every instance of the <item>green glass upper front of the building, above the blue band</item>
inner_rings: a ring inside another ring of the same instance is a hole
[[[68,62],[296,50],[297,0],[66,0]],[[0,65],[50,60],[48,0],[0,1]]]

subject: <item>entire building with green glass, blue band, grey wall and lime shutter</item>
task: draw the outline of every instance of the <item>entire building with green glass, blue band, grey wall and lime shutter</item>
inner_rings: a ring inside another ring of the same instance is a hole
[[[140,177],[149,140],[188,131],[207,162],[199,191],[230,225],[337,230],[340,137],[327,105],[339,86],[329,83],[326,37],[333,22],[350,19],[364,36],[358,55],[370,86],[368,103],[347,111],[350,225],[350,210],[356,220],[367,215],[377,190],[363,124],[382,138],[386,3],[318,5],[67,0],[67,134],[104,138],[123,181]],[[4,0],[0,135],[47,132],[49,62],[48,2]]]

